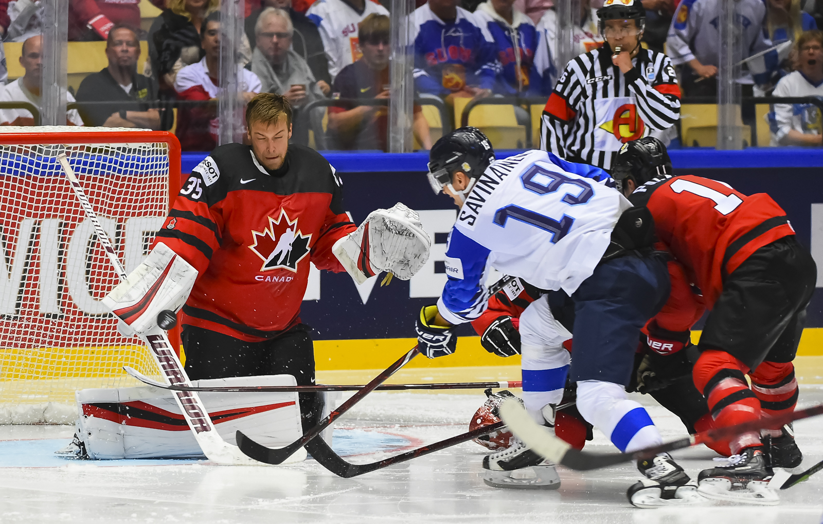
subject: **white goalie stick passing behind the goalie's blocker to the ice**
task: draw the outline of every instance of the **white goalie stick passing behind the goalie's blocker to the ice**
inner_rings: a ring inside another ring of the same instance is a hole
[[[94,208],[91,207],[91,202],[88,196],[86,196],[86,191],[83,191],[83,187],[77,180],[74,170],[69,165],[66,155],[60,154],[57,159],[63,167],[63,172],[66,173],[66,177],[72,186],[72,190],[74,190],[74,194],[77,195],[77,200],[80,200],[80,204],[86,212],[86,217],[89,218],[94,225],[97,240],[100,241],[100,245],[103,246],[106,255],[109,256],[109,261],[114,266],[117,276],[121,281],[125,280],[128,277],[126,269],[123,268],[123,264],[120,263],[117,254],[114,252],[114,247],[111,246],[111,241],[109,241],[109,235],[106,234],[103,226],[100,225],[100,220],[98,220]],[[180,365],[177,354],[174,352],[174,348],[171,342],[169,342],[165,331],[157,327],[149,330],[140,338],[146,343],[146,347],[149,348],[151,356],[154,356],[158,367],[163,371],[163,378],[169,384],[190,385],[183,365]],[[197,440],[203,454],[206,455],[210,461],[216,462],[217,464],[260,464],[260,462],[255,462],[243,453],[240,453],[239,448],[226,443],[226,441],[221,438],[197,393],[178,391],[174,393],[174,400],[183,413],[188,428],[192,430],[194,439]],[[304,458],[304,454],[295,453],[290,457],[289,462],[299,462]]]

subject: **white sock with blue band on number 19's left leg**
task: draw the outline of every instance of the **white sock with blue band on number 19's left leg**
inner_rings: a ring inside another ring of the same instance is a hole
[[[563,342],[571,333],[553,315],[546,295],[528,305],[520,315],[520,352],[523,373],[523,407],[537,424],[554,425],[548,404],[563,398],[571,356]],[[546,417],[550,415],[551,420]]]

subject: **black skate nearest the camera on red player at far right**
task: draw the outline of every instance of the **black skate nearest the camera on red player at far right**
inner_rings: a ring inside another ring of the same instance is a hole
[[[724,460],[725,466],[700,471],[698,493],[707,499],[768,506],[780,502],[777,491],[768,489],[772,471],[763,448],[745,448]]]

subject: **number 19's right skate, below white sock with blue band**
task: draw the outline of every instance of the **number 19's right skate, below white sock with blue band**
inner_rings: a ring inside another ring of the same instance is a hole
[[[668,453],[637,461],[646,478],[626,491],[629,502],[638,508],[658,508],[672,504],[698,503],[697,484]]]

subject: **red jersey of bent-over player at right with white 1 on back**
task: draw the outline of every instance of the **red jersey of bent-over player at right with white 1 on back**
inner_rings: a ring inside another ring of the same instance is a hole
[[[652,212],[658,240],[683,264],[709,309],[726,275],[760,247],[794,234],[786,212],[769,195],[743,195],[709,178],[654,178],[629,200]]]

